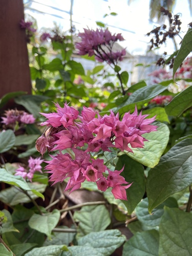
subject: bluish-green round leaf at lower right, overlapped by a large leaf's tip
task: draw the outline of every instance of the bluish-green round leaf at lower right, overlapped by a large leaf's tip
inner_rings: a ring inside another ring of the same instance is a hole
[[[175,198],[167,198],[162,204],[152,211],[152,214],[148,212],[148,198],[143,199],[136,207],[135,212],[137,219],[144,225],[150,227],[159,226],[161,216],[163,215],[164,206],[178,207],[177,200]]]

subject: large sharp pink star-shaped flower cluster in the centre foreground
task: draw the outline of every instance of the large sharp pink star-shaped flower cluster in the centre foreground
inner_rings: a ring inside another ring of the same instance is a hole
[[[79,114],[67,103],[63,108],[57,103],[55,105],[56,113],[41,113],[47,118],[42,125],[48,125],[48,128],[36,142],[36,148],[41,154],[45,153],[46,148],[49,152],[59,151],[56,156],[51,156],[52,160],[47,161],[50,181],[57,183],[70,178],[66,190],[71,191],[80,188],[85,180],[92,181],[102,191],[112,187],[116,199],[126,200],[125,188],[131,184],[120,176],[123,169],[112,172],[103,160],[94,159],[92,153],[100,150],[110,152],[110,147],[133,152],[128,144],[143,147],[146,139],[142,135],[156,131],[157,126],[151,124],[155,117],[146,119],[148,115],[138,115],[135,108],[133,114],[125,113],[122,120],[119,120],[119,115],[112,111],[110,115],[101,116],[93,109],[83,107]],[[62,153],[67,148],[72,149],[73,156]]]

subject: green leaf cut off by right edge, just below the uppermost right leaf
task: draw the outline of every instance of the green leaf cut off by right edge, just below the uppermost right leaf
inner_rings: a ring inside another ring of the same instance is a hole
[[[180,116],[185,110],[192,106],[192,86],[188,87],[178,95],[176,95],[172,101],[165,106],[165,111],[169,116]]]

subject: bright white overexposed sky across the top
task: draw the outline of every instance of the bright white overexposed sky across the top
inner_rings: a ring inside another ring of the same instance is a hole
[[[26,1],[24,0],[24,3]],[[41,12],[37,13],[30,9],[25,10],[26,13],[29,13],[37,20],[38,29],[41,27],[53,28],[54,22],[63,31],[70,29],[71,0],[28,1],[32,3],[30,8]],[[122,34],[125,40],[120,44],[126,47],[128,52],[132,55],[144,55],[151,40],[151,37],[146,36],[146,33],[159,26],[159,24],[150,23],[150,0],[134,0],[130,6],[127,2],[127,0],[73,0],[72,20],[76,32],[82,32],[83,28],[96,29],[96,22],[102,22],[108,25],[112,33]],[[104,14],[109,14],[110,12],[116,12],[118,15],[103,17]],[[186,32],[187,24],[192,21],[188,0],[177,0],[173,13],[181,13],[182,31]],[[166,47],[162,47],[156,53],[162,54],[164,51],[170,52],[170,54],[174,52],[171,40],[169,40]]]

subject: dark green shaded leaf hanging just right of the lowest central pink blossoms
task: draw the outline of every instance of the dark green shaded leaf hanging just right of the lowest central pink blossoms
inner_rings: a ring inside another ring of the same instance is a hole
[[[127,201],[122,201],[127,207],[128,214],[131,215],[145,193],[144,170],[140,163],[127,155],[119,156],[116,168],[120,170],[123,166],[124,170],[121,175],[127,182],[133,182],[131,187],[126,189]]]

